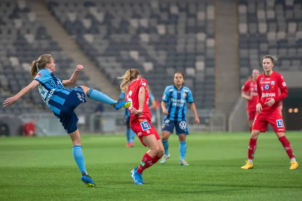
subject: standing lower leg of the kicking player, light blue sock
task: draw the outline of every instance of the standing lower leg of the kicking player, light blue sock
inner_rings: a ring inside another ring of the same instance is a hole
[[[81,143],[81,137],[79,129],[74,131],[73,133],[69,134],[71,140],[72,140],[72,154],[75,162],[77,163],[80,172],[82,174],[81,180],[87,184],[88,187],[94,187],[96,186],[95,182],[91,179],[91,177],[88,175],[88,172],[85,167],[85,160],[84,160],[84,154],[82,151],[82,143]]]

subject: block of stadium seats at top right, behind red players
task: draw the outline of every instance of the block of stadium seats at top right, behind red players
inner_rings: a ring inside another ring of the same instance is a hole
[[[302,9],[299,0],[239,0],[242,82],[264,55],[277,55],[275,70],[302,70]]]

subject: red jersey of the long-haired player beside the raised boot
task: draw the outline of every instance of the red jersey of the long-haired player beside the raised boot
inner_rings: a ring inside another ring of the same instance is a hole
[[[131,113],[132,108],[135,108],[136,110],[139,109],[139,100],[138,100],[138,93],[139,93],[139,88],[144,87],[145,89],[145,100],[143,104],[143,110],[140,116],[138,115],[133,115]],[[151,112],[149,110],[149,94],[147,91],[147,81],[144,78],[140,78],[138,80],[133,81],[131,84],[128,86],[128,93],[126,93],[126,100],[131,102],[130,107],[128,110],[130,111],[130,125],[131,122],[137,118],[144,118],[146,120],[151,120]]]

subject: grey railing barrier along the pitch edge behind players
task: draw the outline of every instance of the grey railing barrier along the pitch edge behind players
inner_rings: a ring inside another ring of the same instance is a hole
[[[188,110],[187,124],[191,133],[196,132],[225,132],[226,118],[225,114],[218,110],[198,110],[197,111],[200,124],[195,124],[194,114]],[[123,134],[125,131],[125,120],[123,111],[120,112],[104,112],[102,114],[81,114],[78,115],[78,127],[82,134]],[[10,122],[18,120],[20,125],[11,124],[11,127],[20,127],[22,123],[29,121],[35,122],[37,136],[59,136],[66,135],[59,119],[54,118],[52,113],[32,113],[21,115],[1,115],[0,119],[10,118]],[[157,109],[154,111],[152,124],[161,131],[164,115]],[[13,130],[12,130],[13,131]],[[11,136],[17,133],[11,132]]]

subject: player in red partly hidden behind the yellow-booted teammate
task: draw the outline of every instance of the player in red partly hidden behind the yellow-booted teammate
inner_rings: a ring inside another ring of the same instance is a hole
[[[248,121],[250,124],[250,132],[252,132],[253,121],[256,117],[256,104],[257,104],[257,82],[256,79],[259,75],[259,70],[254,69],[252,72],[252,79],[246,81],[246,83],[241,88],[241,97],[247,99],[247,114]]]

